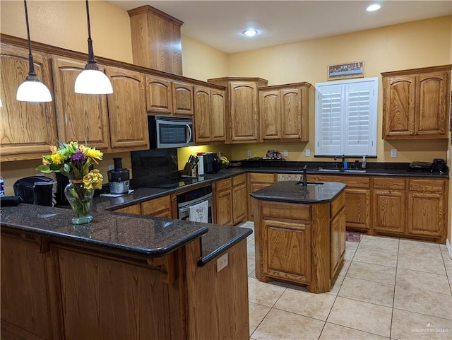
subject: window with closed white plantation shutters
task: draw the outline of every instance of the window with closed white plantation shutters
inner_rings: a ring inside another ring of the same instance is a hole
[[[316,84],[316,156],[376,156],[379,78]]]

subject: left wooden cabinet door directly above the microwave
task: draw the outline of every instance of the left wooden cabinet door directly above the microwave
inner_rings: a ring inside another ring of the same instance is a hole
[[[150,113],[170,115],[172,113],[171,81],[146,76],[146,110]]]

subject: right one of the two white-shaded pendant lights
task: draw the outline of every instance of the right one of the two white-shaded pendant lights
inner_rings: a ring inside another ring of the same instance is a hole
[[[103,95],[113,93],[112,83],[107,75],[97,65],[94,59],[93,40],[91,40],[90,8],[86,0],[86,18],[88,20],[88,63],[85,69],[76,78],[76,93],[86,93],[90,95]]]

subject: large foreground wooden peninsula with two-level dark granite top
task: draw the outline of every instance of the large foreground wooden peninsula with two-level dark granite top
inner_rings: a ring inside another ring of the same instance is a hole
[[[1,208],[6,339],[249,339],[250,229]]]

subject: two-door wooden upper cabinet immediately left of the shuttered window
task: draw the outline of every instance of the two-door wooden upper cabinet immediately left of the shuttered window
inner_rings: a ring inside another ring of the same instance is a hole
[[[259,88],[261,141],[309,140],[309,83]]]

